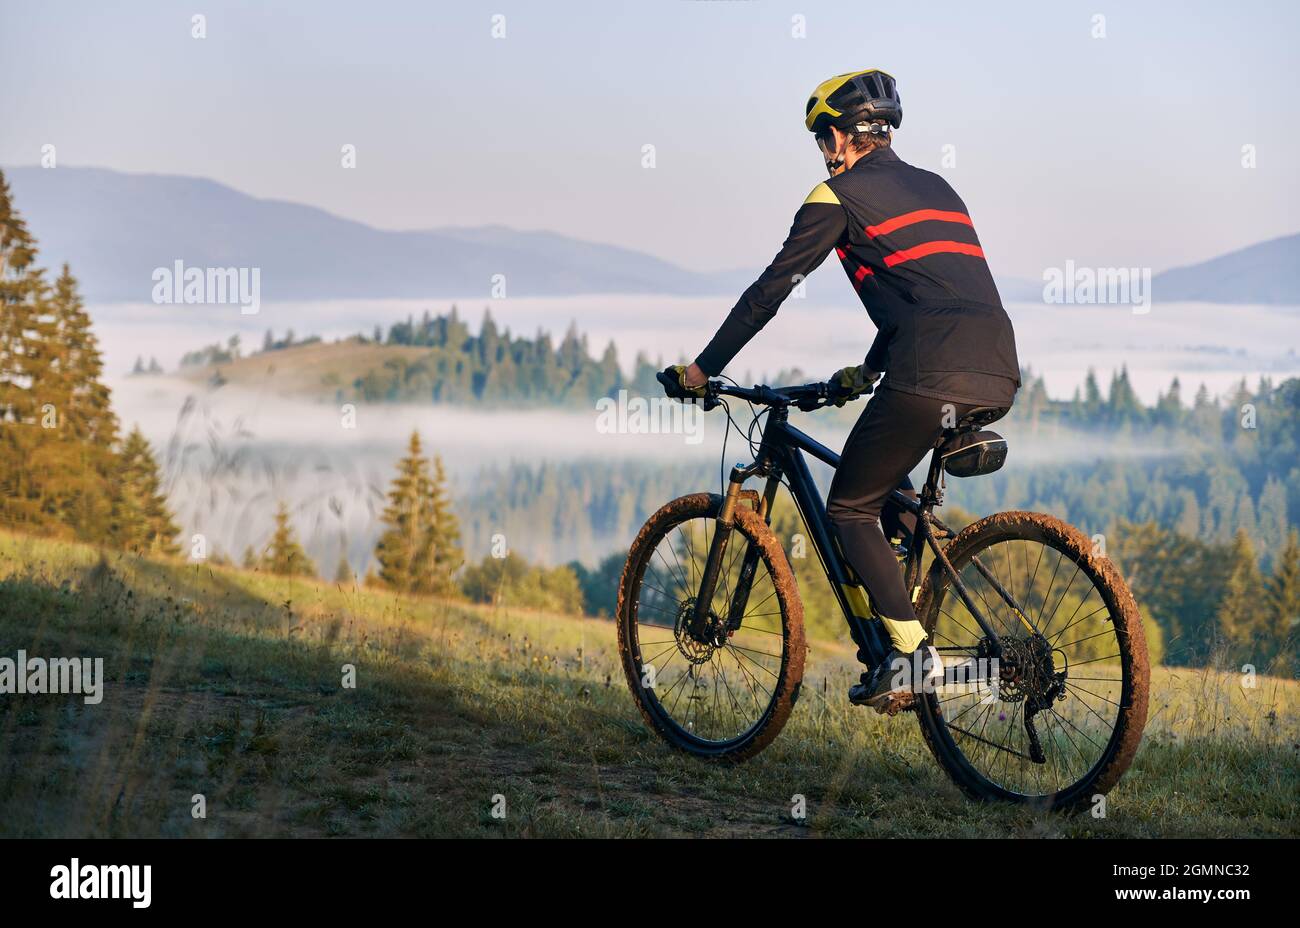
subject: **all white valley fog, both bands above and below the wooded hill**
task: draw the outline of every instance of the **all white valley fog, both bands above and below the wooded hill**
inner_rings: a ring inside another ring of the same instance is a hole
[[[516,334],[543,329],[556,341],[568,325],[588,334],[595,354],[608,341],[619,348],[625,369],[637,352],[651,359],[690,356],[712,334],[728,304],[712,299],[581,296],[508,299],[460,304],[477,331],[490,305],[499,326]],[[511,463],[660,461],[699,473],[718,473],[723,435],[722,412],[686,420],[675,434],[602,432],[595,408],[581,411],[480,411],[434,406],[359,406],[348,424],[337,404],[286,399],[230,386],[211,390],[177,378],[124,377],[143,356],[156,356],[174,369],[179,356],[239,334],[247,350],[261,343],[266,329],[280,338],[341,338],[384,330],[408,315],[446,312],[439,300],[338,300],[266,304],[256,316],[235,307],[160,307],[114,304],[92,307],[96,333],[105,350],[107,380],[114,408],[129,428],[138,422],[164,459],[166,490],[185,538],[202,533],[209,545],[235,558],[269,537],[278,502],[287,503],[294,524],[320,569],[330,574],[341,555],[364,569],[380,532],[380,515],[394,464],[413,429],[425,447],[442,456],[451,489],[460,500],[480,498],[491,486],[489,470]],[[1182,378],[1184,402],[1196,386],[1226,393],[1243,377],[1282,380],[1300,374],[1296,357],[1296,309],[1156,303],[1147,315],[1128,307],[1046,307],[1013,304],[1022,363],[1045,377],[1049,394],[1067,398],[1089,368],[1102,390],[1110,372],[1127,365],[1145,402]],[[861,359],[872,328],[858,308],[828,308],[792,300],[746,348],[732,373],[753,382],[777,370],[800,368],[807,380]],[[748,411],[734,407],[740,422]],[[801,426],[838,450],[855,411],[800,419]],[[694,428],[698,426],[698,430]],[[1140,443],[1119,445],[1062,432],[1022,434],[1004,429],[1013,443],[1009,468],[1096,460],[1098,458],[1169,454]],[[744,439],[731,432],[725,464],[748,459]],[[829,469],[814,465],[826,486]],[[702,489],[714,489],[711,477]],[[464,504],[464,503],[463,503]],[[542,550],[547,526],[515,529],[523,554]],[[529,537],[529,533],[536,537]],[[482,533],[467,538],[471,558],[482,555]],[[624,538],[601,539],[610,548]]]

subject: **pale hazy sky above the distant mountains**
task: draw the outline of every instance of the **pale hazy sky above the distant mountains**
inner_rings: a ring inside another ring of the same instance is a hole
[[[900,155],[952,181],[997,273],[1158,270],[1300,227],[1297,26],[1294,1],[0,0],[0,164],[52,143],[382,227],[758,266],[824,174],[809,91],[880,66]]]

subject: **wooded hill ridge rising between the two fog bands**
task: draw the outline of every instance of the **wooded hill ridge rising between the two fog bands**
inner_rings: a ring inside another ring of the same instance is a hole
[[[588,337],[576,326],[558,342],[547,331],[516,335],[500,329],[485,311],[474,334],[455,305],[447,315],[428,311],[416,320],[407,317],[385,333],[370,333],[325,342],[317,335],[299,337],[292,330],[276,335],[268,330],[260,348],[250,351],[238,337],[225,344],[209,344],[187,352],[181,373],[213,385],[272,382],[280,393],[328,402],[367,403],[456,403],[536,407],[582,407],[619,390],[659,395],[654,374],[663,369],[662,357],[638,354],[630,368],[610,342],[598,355]],[[136,360],[135,373],[161,373],[156,361]],[[803,380],[800,370],[776,372],[772,382]],[[1257,393],[1271,395],[1275,389],[1264,381]],[[1283,385],[1284,386],[1284,385]],[[1277,387],[1280,390],[1282,387]],[[1153,407],[1144,407],[1128,380],[1127,370],[1110,372],[1105,393],[1095,373],[1070,400],[1050,400],[1041,378],[1024,372],[1024,387],[1017,399],[1014,416],[1035,421],[1048,419],[1074,428],[1180,429],[1197,425],[1208,406],[1228,403],[1249,394],[1243,381],[1232,396],[1210,396],[1204,386],[1190,394],[1174,378]]]

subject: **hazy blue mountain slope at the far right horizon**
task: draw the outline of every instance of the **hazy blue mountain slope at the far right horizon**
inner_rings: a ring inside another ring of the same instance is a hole
[[[1156,274],[1150,292],[1165,303],[1300,304],[1300,234]]]

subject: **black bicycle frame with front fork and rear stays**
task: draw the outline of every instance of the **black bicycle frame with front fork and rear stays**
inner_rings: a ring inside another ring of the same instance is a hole
[[[871,608],[867,597],[863,594],[864,587],[838,550],[831,520],[826,511],[826,504],[822,502],[822,495],[816,489],[811,472],[809,470],[807,461],[803,458],[805,454],[812,455],[832,468],[837,468],[840,465],[840,455],[818,442],[811,435],[790,425],[789,409],[786,406],[771,406],[768,421],[763,429],[763,437],[759,443],[758,454],[754,456],[754,463],[746,467],[737,464],[732,468],[731,482],[723,502],[722,512],[718,516],[718,530],[714,533],[712,542],[710,543],[708,560],[706,561],[701,576],[701,586],[696,599],[694,613],[692,616],[692,630],[698,634],[702,633],[703,629],[708,628],[708,606],[712,602],[718,576],[722,571],[723,555],[725,555],[731,541],[736,506],[741,504],[741,494],[745,481],[755,476],[767,478],[767,485],[758,500],[757,509],[758,513],[768,524],[771,524],[772,503],[775,502],[776,491],[781,485],[781,478],[784,477],[789,485],[790,495],[794,498],[794,504],[803,519],[805,526],[807,528],[812,547],[822,561],[822,568],[826,571],[827,580],[831,581],[831,587],[840,603],[840,610],[844,612],[845,623],[849,626],[849,634],[859,649],[859,658],[864,659],[864,663],[874,665],[885,659],[892,646],[883,624],[880,621],[872,621]],[[901,490],[894,490],[890,496],[892,504],[898,506],[904,511],[911,512],[916,516],[916,530],[913,533],[904,561],[905,581],[907,587],[911,590],[913,602],[915,602],[920,593],[922,584],[922,555],[924,548],[928,546],[933,552],[935,560],[948,573],[953,589],[957,591],[958,597],[961,597],[962,602],[985,633],[989,645],[989,652],[987,656],[998,658],[1002,654],[1002,645],[996,629],[979,606],[974,602],[966,589],[966,585],[962,582],[961,576],[944,555],[942,547],[939,543],[941,538],[953,538],[956,534],[932,513],[933,507],[942,503],[942,463],[940,461],[939,451],[936,448],[935,454],[931,456],[930,470],[920,494],[916,498],[913,498]],[[1011,597],[1011,594],[1008,593],[1000,582],[997,582],[993,573],[979,563],[978,558],[972,558],[972,563],[976,571],[989,580],[1002,600],[1011,608],[1013,615],[1015,615],[1031,633],[1036,633],[1037,629],[1034,628],[1032,623],[1026,616],[1024,610],[1014,599],[1014,597]],[[741,574],[736,589],[732,593],[732,600],[728,604],[728,629],[733,630],[741,624],[745,604],[749,598],[750,584],[757,565],[758,551],[754,546],[750,546],[745,552],[745,559],[741,563]]]

